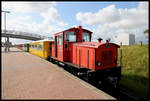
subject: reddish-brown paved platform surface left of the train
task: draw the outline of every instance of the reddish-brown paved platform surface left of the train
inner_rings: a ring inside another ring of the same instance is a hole
[[[38,56],[1,50],[2,99],[115,99]]]

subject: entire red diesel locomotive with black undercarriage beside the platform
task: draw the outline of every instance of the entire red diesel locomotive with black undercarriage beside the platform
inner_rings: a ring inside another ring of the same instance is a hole
[[[121,78],[121,67],[117,67],[119,46],[106,40],[91,42],[92,32],[81,26],[55,34],[50,43],[50,61],[64,64],[64,68],[88,81],[105,82],[115,87]]]

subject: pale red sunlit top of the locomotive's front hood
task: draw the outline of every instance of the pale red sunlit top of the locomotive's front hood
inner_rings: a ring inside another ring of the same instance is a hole
[[[99,42],[78,42],[78,43],[73,43],[73,45],[78,45],[78,46],[83,46],[83,47],[91,47],[91,48],[98,48],[101,45],[105,45],[107,43],[99,43]],[[113,44],[116,47],[120,47],[117,44],[114,43],[109,43],[109,44]]]

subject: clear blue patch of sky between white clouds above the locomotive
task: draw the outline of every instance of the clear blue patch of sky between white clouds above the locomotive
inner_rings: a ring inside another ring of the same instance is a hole
[[[116,8],[135,8],[138,6],[138,2],[58,2],[57,4],[56,8],[60,12],[62,19],[66,22],[71,22],[70,24],[72,25],[81,24],[76,21],[78,12],[95,13],[99,9],[112,4],[116,5]]]

